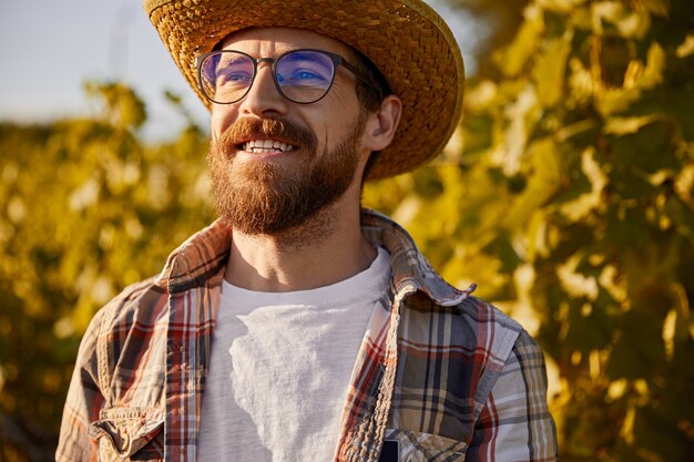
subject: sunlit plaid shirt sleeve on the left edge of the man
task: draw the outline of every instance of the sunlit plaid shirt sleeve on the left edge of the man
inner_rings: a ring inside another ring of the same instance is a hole
[[[63,408],[57,462],[98,460],[96,443],[89,437],[89,425],[99,420],[104,397],[99,387],[98,338],[103,311],[92,319],[78,352],[68,399]]]

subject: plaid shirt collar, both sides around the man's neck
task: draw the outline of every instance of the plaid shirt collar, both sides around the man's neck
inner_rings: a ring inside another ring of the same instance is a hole
[[[392,286],[397,292],[422,291],[441,306],[462,301],[476,286],[459,290],[446,283],[417,248],[410,235],[396,222],[378,212],[361,212],[361,232],[374,245],[390,254]],[[232,229],[221,219],[200,230],[174,250],[159,284],[170,292],[200,286],[226,265]]]

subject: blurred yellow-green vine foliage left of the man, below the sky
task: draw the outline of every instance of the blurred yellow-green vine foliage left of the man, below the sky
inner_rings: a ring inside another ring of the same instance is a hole
[[[207,136],[191,125],[147,145],[132,90],[86,91],[94,117],[0,125],[0,461],[53,459],[94,311],[214,218]]]

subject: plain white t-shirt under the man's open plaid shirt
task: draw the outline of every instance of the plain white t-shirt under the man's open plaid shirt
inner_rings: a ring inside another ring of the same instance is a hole
[[[359,346],[388,304],[390,257],[314,290],[224,283],[203,394],[197,460],[329,461]]]

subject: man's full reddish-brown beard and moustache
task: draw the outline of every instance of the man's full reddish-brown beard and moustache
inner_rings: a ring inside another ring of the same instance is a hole
[[[360,113],[347,136],[318,155],[316,136],[307,129],[279,119],[239,120],[207,155],[217,213],[248,235],[279,235],[317,218],[353,183],[365,124]],[[283,154],[297,158],[235,162],[239,142],[267,137],[298,147]]]

